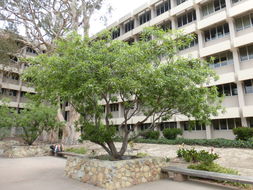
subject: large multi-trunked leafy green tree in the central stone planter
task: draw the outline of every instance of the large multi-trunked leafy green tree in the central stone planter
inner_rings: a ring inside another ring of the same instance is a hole
[[[61,94],[80,114],[81,138],[121,159],[128,142],[140,135],[130,135],[127,127],[140,113],[143,116],[133,128],[151,121],[148,130],[179,113],[200,121],[217,114],[216,88],[203,87],[215,73],[200,59],[176,55],[192,38],[149,28],[130,45],[112,40],[110,32],[96,39],[72,34],[57,42],[54,54],[30,60],[32,66],[24,77],[31,79],[41,99],[54,102]],[[116,102],[123,107],[122,123],[117,124],[123,129],[119,150],[110,110]]]

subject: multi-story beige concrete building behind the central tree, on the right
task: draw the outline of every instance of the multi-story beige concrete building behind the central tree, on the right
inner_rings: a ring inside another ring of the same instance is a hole
[[[222,105],[226,112],[211,118],[210,126],[196,125],[189,130],[187,118],[176,116],[160,123],[160,130],[177,127],[184,138],[233,139],[234,127],[253,127],[253,0],[151,0],[108,29],[116,27],[113,38],[131,43],[148,26],[194,33],[196,40],[179,55],[215,57],[210,67],[220,78],[210,85],[225,95]],[[122,110],[121,103],[111,105],[115,125],[122,121]],[[132,124],[140,118],[133,118]]]

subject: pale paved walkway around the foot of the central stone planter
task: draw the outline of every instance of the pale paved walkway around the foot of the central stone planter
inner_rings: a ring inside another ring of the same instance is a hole
[[[1,190],[102,190],[64,176],[66,160],[55,157],[6,159],[0,158]],[[161,180],[125,190],[226,190],[194,182]]]

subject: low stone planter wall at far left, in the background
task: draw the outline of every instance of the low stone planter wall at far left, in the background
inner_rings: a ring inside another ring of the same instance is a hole
[[[49,154],[49,145],[11,146],[3,152],[3,156],[8,158],[39,157],[48,156]]]

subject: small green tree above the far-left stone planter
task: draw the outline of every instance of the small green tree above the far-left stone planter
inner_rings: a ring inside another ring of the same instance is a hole
[[[44,131],[57,130],[63,126],[62,122],[57,121],[55,107],[34,102],[27,104],[20,113],[6,105],[0,106],[0,114],[0,128],[21,128],[22,134],[20,136],[28,145],[32,145]]]

